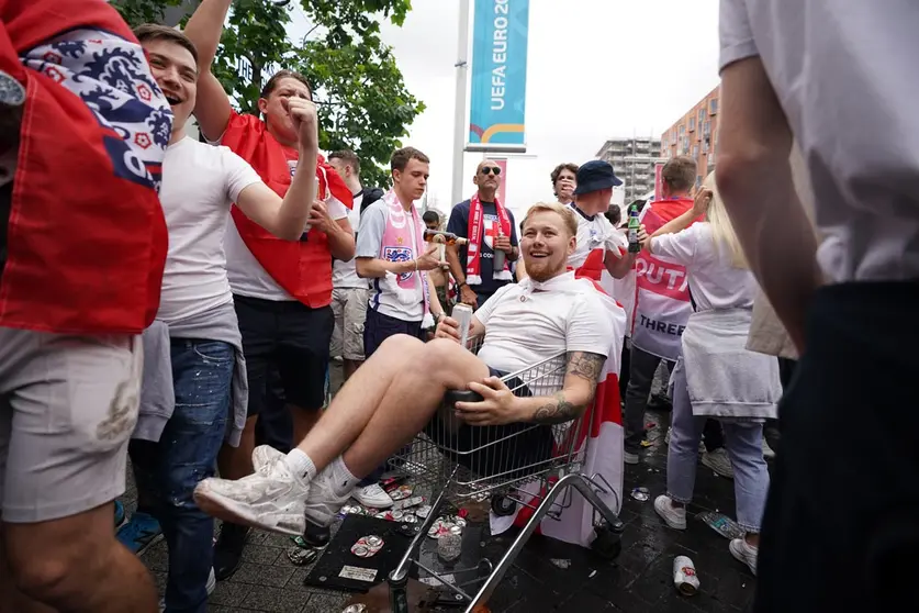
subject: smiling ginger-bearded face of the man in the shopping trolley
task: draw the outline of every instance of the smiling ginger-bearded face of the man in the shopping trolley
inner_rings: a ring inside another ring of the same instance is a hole
[[[568,269],[575,238],[562,215],[552,210],[537,210],[527,215],[520,237],[527,275],[535,281],[548,281]]]

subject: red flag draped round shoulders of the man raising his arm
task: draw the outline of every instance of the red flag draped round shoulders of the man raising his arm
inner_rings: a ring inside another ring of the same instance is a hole
[[[248,161],[268,187],[284,197],[293,176],[289,161],[296,160],[298,153],[276,141],[264,121],[234,112],[221,144]],[[330,194],[348,209],[354,207],[348,186],[322,156],[316,159],[316,198],[325,200]],[[325,233],[313,229],[306,241],[282,241],[235,205],[232,214],[243,242],[279,286],[312,309],[332,302],[332,253]]]

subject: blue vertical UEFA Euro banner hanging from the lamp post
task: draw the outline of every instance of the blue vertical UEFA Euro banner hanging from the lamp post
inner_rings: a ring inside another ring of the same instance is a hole
[[[475,0],[470,148],[526,149],[529,0]]]

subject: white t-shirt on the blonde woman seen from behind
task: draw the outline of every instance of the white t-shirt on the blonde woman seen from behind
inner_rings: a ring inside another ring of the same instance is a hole
[[[676,234],[655,236],[651,253],[686,267],[696,311],[753,308],[759,289],[753,272],[731,266],[728,249],[715,245],[710,223],[696,222]]]

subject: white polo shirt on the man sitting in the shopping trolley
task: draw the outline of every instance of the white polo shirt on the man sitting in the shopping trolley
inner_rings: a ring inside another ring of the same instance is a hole
[[[485,343],[479,358],[497,370],[513,374],[557,354],[587,352],[608,357],[613,322],[598,291],[587,287],[583,293],[552,291],[570,283],[574,272],[565,272],[543,283],[526,279],[498,289],[478,311],[485,326]],[[523,378],[526,382],[526,378]],[[550,383],[549,381],[546,382]],[[534,394],[558,390],[530,387]]]

